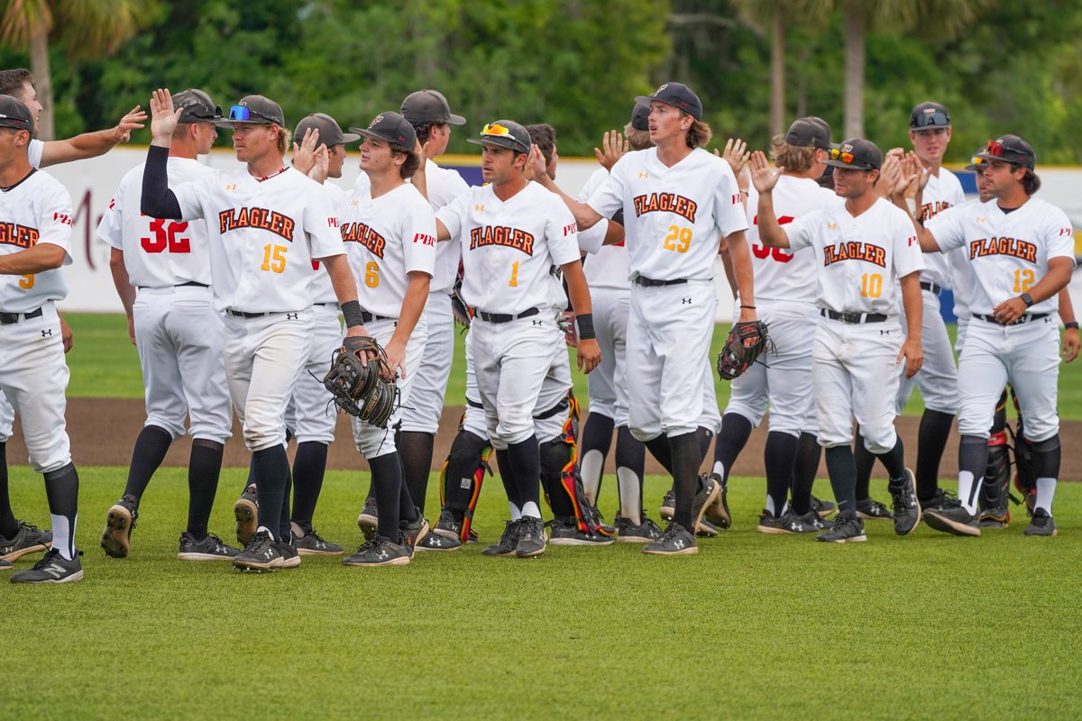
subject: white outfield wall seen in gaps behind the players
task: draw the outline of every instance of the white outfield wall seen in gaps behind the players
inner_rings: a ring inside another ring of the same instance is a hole
[[[124,173],[141,163],[145,157],[145,147],[119,147],[101,158],[48,169],[48,172],[71,192],[71,200],[75,203],[71,241],[75,264],[65,268],[70,293],[62,304],[62,309],[77,312],[122,311],[109,273],[108,246],[97,239],[94,231]],[[334,181],[344,188],[353,185],[359,172],[357,158],[356,152],[351,152],[346,159],[343,177]],[[204,158],[204,161],[214,168],[228,168],[236,163],[233,150],[228,148],[215,149]],[[440,164],[458,168],[466,181],[475,185],[481,182],[478,161],[479,156],[445,156],[440,159]],[[597,163],[592,159],[563,158],[556,182],[573,196],[596,169]],[[966,190],[974,191],[973,174],[960,173],[960,175]],[[1082,187],[1082,168],[1042,168],[1040,175],[1042,181],[1040,197],[1063,208],[1076,229],[1082,229],[1082,193],[1079,192],[1079,188]],[[1082,255],[1082,232],[1076,232],[1076,244],[1079,249],[1078,254]],[[717,320],[729,321],[733,319],[733,306],[724,299],[730,298],[731,292],[721,262],[717,263],[715,282],[717,297],[723,301],[717,306]],[[1071,296],[1076,307],[1079,307],[1078,304],[1082,302],[1080,273],[1076,273],[1076,280],[1071,283]]]

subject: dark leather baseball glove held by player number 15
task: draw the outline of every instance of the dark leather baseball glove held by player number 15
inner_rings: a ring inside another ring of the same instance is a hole
[[[361,364],[362,357],[367,358],[367,364]],[[390,375],[386,355],[375,338],[346,337],[331,356],[324,387],[334,398],[334,404],[349,415],[386,428],[398,400],[398,389],[386,375]]]

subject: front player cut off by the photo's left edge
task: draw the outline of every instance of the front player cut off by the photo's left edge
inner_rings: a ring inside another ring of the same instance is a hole
[[[34,470],[45,478],[52,548],[13,583],[82,578],[75,548],[79,475],[64,422],[68,369],[55,302],[67,295],[60,267],[71,263],[71,197],[28,156],[34,116],[0,95],[0,391],[23,419]]]

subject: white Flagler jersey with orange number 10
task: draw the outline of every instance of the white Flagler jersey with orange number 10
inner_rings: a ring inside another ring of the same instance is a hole
[[[857,217],[833,203],[783,229],[793,250],[815,253],[820,308],[897,316],[895,281],[924,267],[913,222],[883,198]]]

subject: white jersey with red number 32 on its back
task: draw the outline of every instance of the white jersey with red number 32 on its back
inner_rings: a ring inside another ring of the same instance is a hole
[[[214,171],[192,158],[170,158],[171,183],[195,183]],[[211,284],[207,224],[168,221],[140,212],[143,169],[131,169],[97,224],[97,237],[122,251],[128,278],[136,288],[168,288],[187,282]]]

